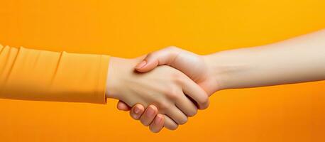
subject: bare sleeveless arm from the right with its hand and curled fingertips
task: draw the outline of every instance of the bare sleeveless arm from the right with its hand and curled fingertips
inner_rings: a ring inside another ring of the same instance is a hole
[[[149,72],[160,65],[184,72],[209,95],[221,89],[325,80],[325,30],[270,45],[211,55],[196,55],[176,47],[165,48],[147,55],[136,70]],[[123,102],[118,104],[120,110],[128,111],[129,108]],[[141,109],[143,112],[144,107]],[[148,107],[145,111],[148,109],[153,108]],[[141,116],[141,112],[136,115]],[[133,114],[131,110],[132,117]],[[151,120],[155,116],[143,117]],[[162,129],[162,124],[152,125],[150,130],[153,132]]]

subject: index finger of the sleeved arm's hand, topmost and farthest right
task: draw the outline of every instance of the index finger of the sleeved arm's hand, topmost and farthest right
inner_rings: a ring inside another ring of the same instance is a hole
[[[199,87],[198,84],[193,82],[193,80],[189,79],[189,77],[184,77],[182,88],[184,94],[187,94],[188,97],[193,99],[197,103],[199,109],[206,109],[209,107],[208,94],[206,94],[204,89]]]

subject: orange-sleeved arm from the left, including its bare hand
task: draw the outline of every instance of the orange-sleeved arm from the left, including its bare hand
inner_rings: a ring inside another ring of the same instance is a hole
[[[179,70],[163,66],[145,74],[135,72],[143,58],[1,46],[0,98],[104,104],[108,97],[130,106],[155,104],[160,110],[156,113],[166,114],[161,121],[168,129],[194,116],[195,104],[208,107],[206,92]]]

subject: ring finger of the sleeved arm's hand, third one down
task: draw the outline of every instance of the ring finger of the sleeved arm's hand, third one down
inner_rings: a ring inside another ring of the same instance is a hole
[[[169,108],[166,114],[179,125],[185,124],[187,122],[187,116],[176,106]]]

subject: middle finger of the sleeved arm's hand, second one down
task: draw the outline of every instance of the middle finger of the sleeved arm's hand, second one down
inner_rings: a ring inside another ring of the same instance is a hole
[[[197,114],[197,106],[185,94],[180,95],[180,98],[175,103],[177,108],[182,110],[187,116]]]

